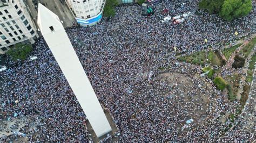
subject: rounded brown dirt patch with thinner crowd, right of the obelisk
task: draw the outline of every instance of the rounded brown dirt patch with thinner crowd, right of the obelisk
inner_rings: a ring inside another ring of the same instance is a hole
[[[176,125],[177,130],[179,132],[192,130],[207,117],[210,95],[213,94],[211,85],[204,79],[197,74],[162,73],[157,75],[153,79],[152,88],[156,94],[162,96],[163,102],[157,101],[157,107],[151,108],[161,108],[161,105],[167,104],[165,106],[170,112],[170,117],[179,117],[180,124]],[[193,119],[193,123],[189,124],[189,128],[184,129],[189,119]]]

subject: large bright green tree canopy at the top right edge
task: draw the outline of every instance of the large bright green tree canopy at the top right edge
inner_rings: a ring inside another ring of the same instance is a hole
[[[248,15],[252,10],[251,0],[203,0],[199,9],[205,9],[210,14],[216,13],[228,21]]]

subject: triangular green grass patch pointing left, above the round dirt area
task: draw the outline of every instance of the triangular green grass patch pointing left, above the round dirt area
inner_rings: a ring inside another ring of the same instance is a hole
[[[180,56],[178,60],[193,63],[195,65],[204,65],[206,59],[206,52],[200,51],[187,56]]]

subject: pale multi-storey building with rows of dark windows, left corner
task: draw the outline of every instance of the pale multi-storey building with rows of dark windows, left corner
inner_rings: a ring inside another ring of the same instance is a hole
[[[23,1],[0,1],[0,54],[4,54],[15,44],[30,42],[38,37],[35,24]]]

